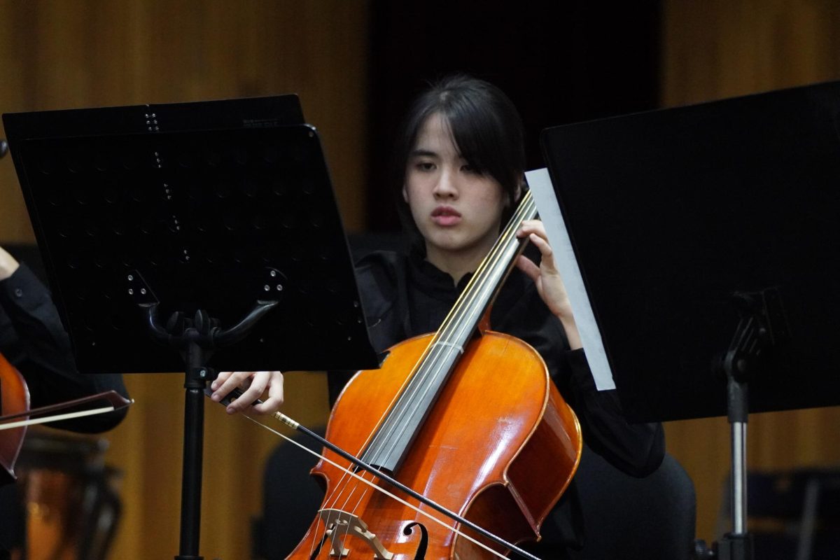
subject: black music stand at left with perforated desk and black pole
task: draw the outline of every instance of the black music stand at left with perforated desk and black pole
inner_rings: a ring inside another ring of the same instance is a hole
[[[201,558],[215,371],[378,367],[318,134],[296,96],[3,123],[78,369],[186,369],[176,558]]]

